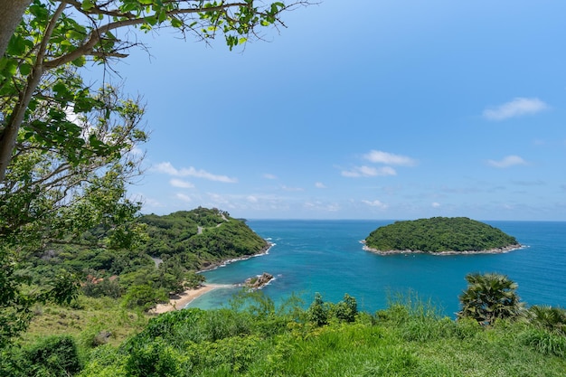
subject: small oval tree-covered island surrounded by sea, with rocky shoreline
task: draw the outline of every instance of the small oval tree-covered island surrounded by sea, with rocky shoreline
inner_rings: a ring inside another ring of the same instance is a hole
[[[372,231],[363,243],[364,250],[382,255],[499,253],[521,248],[514,237],[467,217],[395,221]]]

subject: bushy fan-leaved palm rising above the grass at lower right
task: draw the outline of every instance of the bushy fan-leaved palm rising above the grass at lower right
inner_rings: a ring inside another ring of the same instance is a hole
[[[482,325],[493,325],[497,318],[513,318],[524,305],[515,293],[518,285],[505,275],[468,274],[467,289],[460,295],[462,310],[458,318],[473,318]]]

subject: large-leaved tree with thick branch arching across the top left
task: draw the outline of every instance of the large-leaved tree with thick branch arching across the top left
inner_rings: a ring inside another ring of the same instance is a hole
[[[37,107],[37,89],[46,74],[87,61],[107,62],[125,58],[138,42],[131,28],[149,31],[171,27],[182,36],[193,34],[203,41],[222,33],[233,47],[259,38],[259,29],[283,25],[280,14],[297,4],[275,2],[258,5],[254,0],[33,0],[0,61],[0,183],[16,150],[21,127],[28,137],[42,133],[48,142],[61,143],[60,132],[36,129],[28,121],[28,108]],[[0,20],[1,21],[1,20]],[[60,98],[65,99],[64,96]],[[69,106],[77,106],[69,100]],[[76,148],[76,137],[65,143]],[[98,139],[103,144],[103,140]]]

